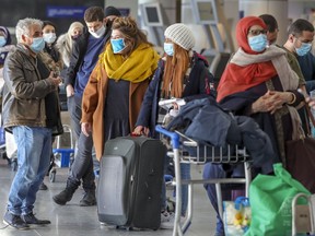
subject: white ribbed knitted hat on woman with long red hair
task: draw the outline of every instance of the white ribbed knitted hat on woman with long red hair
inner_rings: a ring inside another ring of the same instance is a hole
[[[190,28],[185,24],[177,23],[165,30],[164,36],[186,50],[195,46],[195,37]]]

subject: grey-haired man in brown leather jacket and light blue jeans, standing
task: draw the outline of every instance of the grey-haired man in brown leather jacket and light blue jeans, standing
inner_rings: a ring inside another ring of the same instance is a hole
[[[18,229],[50,224],[35,217],[33,209],[49,167],[51,135],[62,133],[60,113],[54,106],[61,80],[37,57],[45,47],[42,26],[36,19],[18,22],[16,49],[9,52],[3,67],[3,127],[13,132],[19,163],[3,223]]]

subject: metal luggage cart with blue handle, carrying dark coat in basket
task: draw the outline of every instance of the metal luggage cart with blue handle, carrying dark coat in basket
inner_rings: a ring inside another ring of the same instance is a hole
[[[165,130],[162,126],[156,126],[155,130],[168,138],[171,138],[171,143],[173,150],[167,154],[174,158],[175,167],[175,186],[176,186],[176,206],[175,206],[175,220],[173,236],[183,235],[188,229],[191,219],[192,219],[192,186],[197,184],[214,184],[217,190],[218,208],[221,217],[223,216],[223,205],[222,205],[222,191],[221,184],[245,184],[246,197],[248,197],[249,182],[252,179],[250,167],[249,167],[249,156],[246,154],[245,149],[240,149],[237,145],[228,145],[228,151],[224,152],[223,148],[205,146],[198,144],[198,142],[184,135],[183,133],[175,131],[171,132]],[[183,152],[183,148],[194,148],[197,151],[196,156],[186,155]],[[232,149],[233,148],[233,149]],[[203,149],[203,150],[201,150]],[[218,149],[220,149],[218,154]],[[210,153],[209,153],[210,150]],[[232,151],[233,150],[233,151]],[[203,153],[202,153],[203,151]],[[202,154],[201,154],[202,153]],[[244,178],[218,178],[218,179],[180,179],[180,163],[190,163],[196,165],[202,165],[206,163],[244,163],[245,177]],[[186,221],[180,225],[180,210],[182,210],[182,185],[188,185],[188,208]]]

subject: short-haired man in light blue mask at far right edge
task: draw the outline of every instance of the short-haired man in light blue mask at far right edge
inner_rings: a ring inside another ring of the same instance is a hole
[[[315,57],[311,52],[314,26],[304,19],[298,19],[290,25],[288,35],[283,47],[296,57],[310,94],[315,90]]]

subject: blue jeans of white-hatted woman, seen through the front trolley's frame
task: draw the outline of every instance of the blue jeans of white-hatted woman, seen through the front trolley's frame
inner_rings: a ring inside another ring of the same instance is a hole
[[[165,157],[164,163],[164,173],[168,165],[167,156]],[[187,163],[180,163],[180,178],[182,179],[190,179],[190,164]],[[175,193],[175,192],[174,192]],[[182,185],[182,212],[180,215],[185,216],[188,205],[188,186]],[[165,179],[163,178],[163,185],[162,185],[162,209],[166,209],[166,188],[165,188]]]

